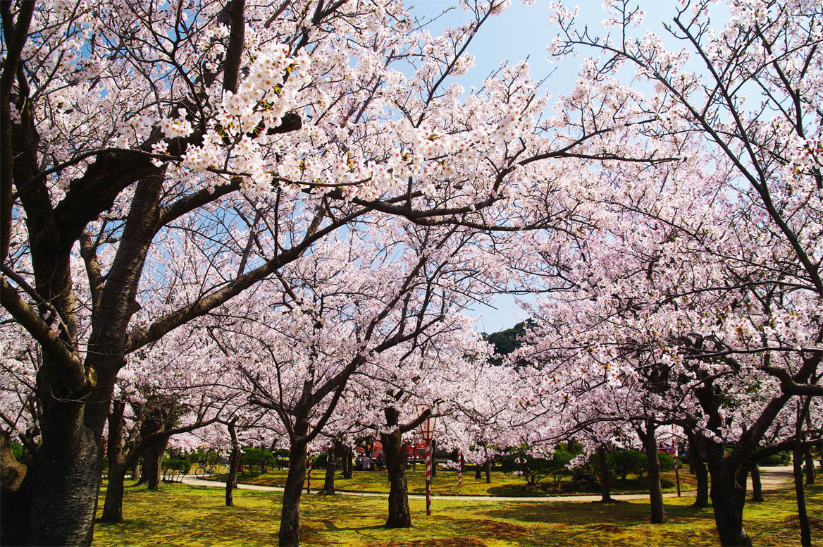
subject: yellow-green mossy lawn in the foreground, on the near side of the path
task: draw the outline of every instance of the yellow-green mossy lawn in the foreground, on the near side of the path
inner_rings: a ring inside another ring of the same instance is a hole
[[[102,500],[102,495],[101,498]],[[94,545],[277,545],[281,494],[235,490],[235,507],[224,490],[165,484],[160,491],[127,488],[126,521],[97,523]],[[711,509],[693,509],[691,498],[666,498],[667,522],[651,525],[649,503],[509,502],[411,500],[412,528],[382,527],[385,498],[304,495],[300,505],[303,545],[446,545],[579,547],[579,545],[717,545]],[[810,517],[820,517],[823,489],[807,489]],[[100,512],[102,507],[100,507]],[[798,545],[793,490],[767,493],[765,503],[747,503],[746,529],[755,545]],[[823,539],[813,518],[813,538]]]

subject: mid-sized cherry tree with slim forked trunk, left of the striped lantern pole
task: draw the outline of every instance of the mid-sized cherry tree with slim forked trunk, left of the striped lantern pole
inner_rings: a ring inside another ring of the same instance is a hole
[[[351,376],[409,367],[404,356],[444,339],[455,328],[455,306],[465,305],[472,287],[486,288],[481,274],[467,275],[470,231],[399,219],[370,228],[328,239],[288,264],[277,282],[216,311],[248,319],[209,330],[235,359],[249,402],[286,428],[281,545],[299,540],[306,454],[340,408]]]

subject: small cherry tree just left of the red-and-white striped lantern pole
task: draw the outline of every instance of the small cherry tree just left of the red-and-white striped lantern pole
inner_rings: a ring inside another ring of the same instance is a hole
[[[404,348],[393,358],[395,366],[364,367],[352,378],[351,390],[365,407],[358,409],[356,420],[383,445],[390,485],[385,526],[412,526],[405,448],[419,439],[420,424],[434,417],[438,446],[467,451],[472,437],[462,420],[468,409],[488,407],[485,395],[491,392],[507,399],[507,386],[495,382],[500,376],[483,372],[490,356],[491,346],[472,329],[472,322],[455,316],[448,330],[439,329],[413,351]],[[418,414],[415,404],[429,409]]]

